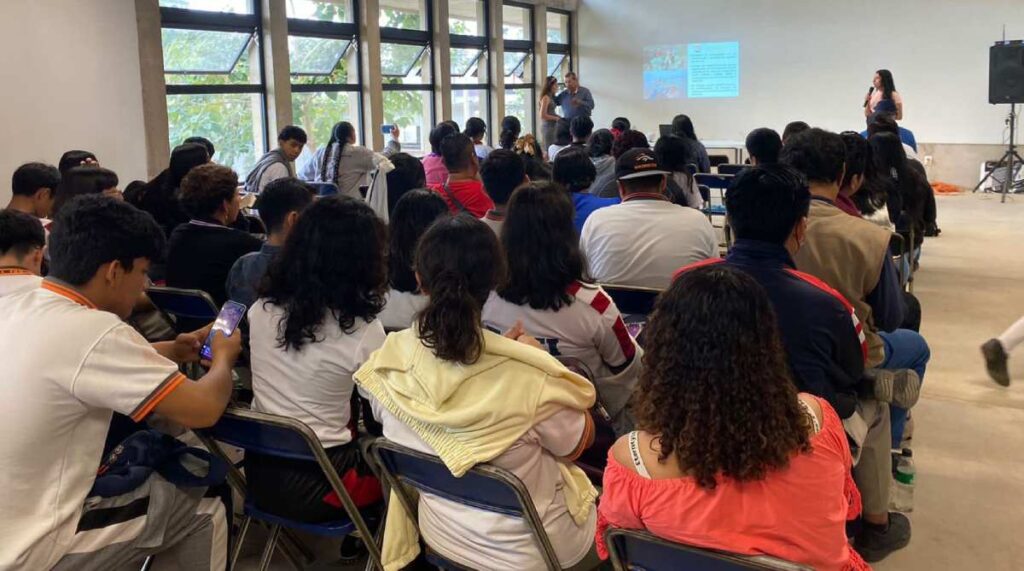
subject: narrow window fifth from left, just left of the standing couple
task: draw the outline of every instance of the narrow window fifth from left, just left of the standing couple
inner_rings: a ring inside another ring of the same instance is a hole
[[[505,115],[522,124],[522,133],[535,133],[537,104],[534,95],[534,8],[528,4],[506,2],[502,6],[502,38],[505,58]]]

